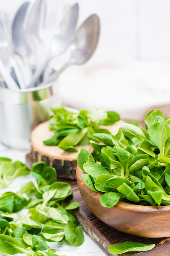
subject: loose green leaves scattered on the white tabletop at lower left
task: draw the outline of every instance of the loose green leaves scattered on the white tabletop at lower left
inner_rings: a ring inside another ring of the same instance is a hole
[[[68,201],[70,184],[56,181],[55,169],[45,162],[34,163],[31,174],[37,182],[0,196],[0,252],[56,256],[47,242],[82,245],[83,231],[70,212],[79,206]]]

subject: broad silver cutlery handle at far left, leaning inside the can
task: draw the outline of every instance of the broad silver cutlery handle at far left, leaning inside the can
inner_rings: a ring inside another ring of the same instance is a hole
[[[15,81],[11,77],[11,74],[7,72],[1,59],[0,59],[0,74],[9,89],[12,89],[12,90],[18,89],[18,85],[15,83]]]

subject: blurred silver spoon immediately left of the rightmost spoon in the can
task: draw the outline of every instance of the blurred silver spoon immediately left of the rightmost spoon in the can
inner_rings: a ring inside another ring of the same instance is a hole
[[[69,8],[64,14],[64,18],[61,20],[59,25],[59,31],[53,37],[51,42],[51,48],[49,52],[49,58],[45,63],[35,72],[33,79],[27,88],[32,88],[38,81],[40,76],[44,73],[44,70],[48,66],[49,62],[56,56],[62,54],[71,43],[75,27],[77,25],[79,6],[75,3],[71,8]]]

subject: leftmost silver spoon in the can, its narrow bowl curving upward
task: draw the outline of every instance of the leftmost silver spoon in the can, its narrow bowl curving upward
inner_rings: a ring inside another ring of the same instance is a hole
[[[21,56],[22,63],[23,63],[22,72],[25,77],[24,80],[27,81],[27,83],[28,81],[31,81],[31,77],[32,77],[32,72],[28,63],[28,57],[31,54],[31,50],[26,43],[26,40],[24,37],[24,29],[23,29],[24,18],[25,18],[28,7],[29,7],[29,2],[24,2],[18,8],[18,11],[15,13],[15,16],[12,21],[12,26],[11,26],[13,47],[15,52],[19,54],[19,56]],[[26,85],[24,85],[24,87],[26,87]]]

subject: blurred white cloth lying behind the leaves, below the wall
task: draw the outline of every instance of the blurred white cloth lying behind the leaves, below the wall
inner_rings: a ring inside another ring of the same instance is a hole
[[[151,108],[170,105],[170,62],[73,65],[60,75],[59,85],[64,105],[113,110],[121,119],[143,120]]]

